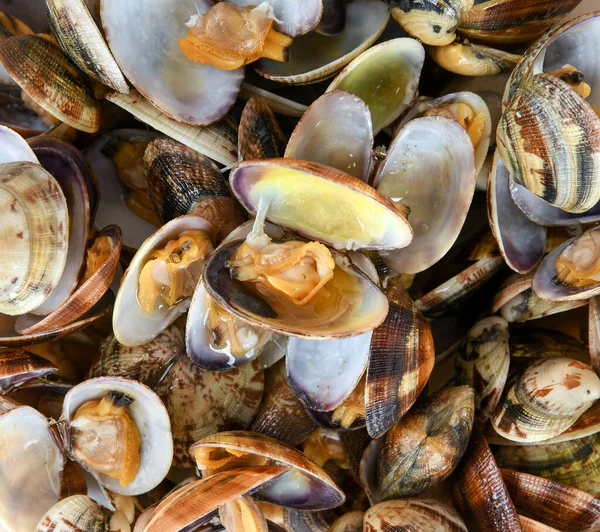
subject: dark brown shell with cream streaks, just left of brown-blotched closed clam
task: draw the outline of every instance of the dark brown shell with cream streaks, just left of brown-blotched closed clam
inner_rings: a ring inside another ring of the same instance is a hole
[[[492,316],[469,331],[456,357],[458,384],[472,386],[478,421],[485,421],[496,409],[508,377],[510,351],[508,322]]]

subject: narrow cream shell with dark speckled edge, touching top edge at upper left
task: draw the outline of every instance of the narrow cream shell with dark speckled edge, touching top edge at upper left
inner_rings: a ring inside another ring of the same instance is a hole
[[[84,0],[47,0],[52,33],[86,74],[119,92],[129,87]]]

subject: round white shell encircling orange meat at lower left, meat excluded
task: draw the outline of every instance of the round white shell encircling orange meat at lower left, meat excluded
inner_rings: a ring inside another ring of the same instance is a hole
[[[158,396],[143,384],[122,377],[99,377],[78,384],[65,395],[63,403],[64,443],[72,452],[71,421],[81,405],[100,399],[108,392],[122,393],[133,399],[129,413],[140,437],[140,465],[133,480],[122,486],[119,480],[98,473],[76,458],[102,486],[120,495],[139,495],[155,488],[166,477],[173,459],[173,441],[169,414]]]

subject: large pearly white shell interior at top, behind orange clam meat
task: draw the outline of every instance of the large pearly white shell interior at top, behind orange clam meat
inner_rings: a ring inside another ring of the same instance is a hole
[[[106,40],[127,79],[168,116],[193,125],[222,118],[244,76],[243,69],[194,63],[179,48],[189,18],[210,7],[208,0],[103,0],[100,8]]]

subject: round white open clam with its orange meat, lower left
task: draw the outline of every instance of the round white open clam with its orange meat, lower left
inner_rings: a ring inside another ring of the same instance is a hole
[[[171,467],[167,410],[152,390],[130,379],[99,377],[72,388],[62,432],[74,460],[114,493],[146,493]]]

